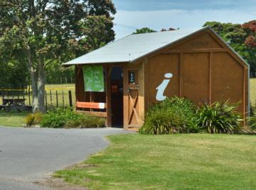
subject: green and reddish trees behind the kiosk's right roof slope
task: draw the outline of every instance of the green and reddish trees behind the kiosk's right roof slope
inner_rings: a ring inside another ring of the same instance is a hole
[[[240,24],[207,22],[233,49],[249,64],[251,72],[256,72],[256,21]]]

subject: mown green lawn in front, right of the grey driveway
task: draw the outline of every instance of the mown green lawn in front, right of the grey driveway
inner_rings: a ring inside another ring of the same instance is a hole
[[[106,150],[55,172],[90,189],[256,189],[256,136],[112,135]]]

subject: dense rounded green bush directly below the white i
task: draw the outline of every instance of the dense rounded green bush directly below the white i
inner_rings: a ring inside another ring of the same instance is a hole
[[[159,135],[169,133],[196,133],[196,108],[184,98],[173,97],[154,104],[146,113],[139,133]]]

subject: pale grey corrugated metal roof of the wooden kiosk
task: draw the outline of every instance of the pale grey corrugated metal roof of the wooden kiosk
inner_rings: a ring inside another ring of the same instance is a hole
[[[144,33],[128,35],[97,50],[75,58],[63,65],[134,62],[135,60],[170,45],[188,35],[208,28],[181,29],[157,33]]]

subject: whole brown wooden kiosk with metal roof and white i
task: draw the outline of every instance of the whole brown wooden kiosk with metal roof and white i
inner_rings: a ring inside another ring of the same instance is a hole
[[[109,127],[139,128],[166,96],[198,106],[229,99],[240,101],[244,118],[249,111],[249,65],[208,26],[129,35],[63,65],[75,65],[76,110],[107,118]],[[103,89],[87,90],[85,78],[100,72]]]

